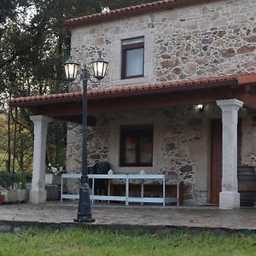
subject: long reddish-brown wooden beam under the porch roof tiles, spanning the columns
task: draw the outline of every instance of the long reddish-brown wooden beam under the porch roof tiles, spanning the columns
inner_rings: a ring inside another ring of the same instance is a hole
[[[246,86],[239,88],[211,88],[194,91],[175,91],[166,94],[125,96],[112,99],[89,100],[88,113],[106,113],[114,111],[135,110],[143,108],[165,108],[172,106],[193,105],[216,102],[217,100],[237,98],[247,94]],[[242,101],[242,99],[241,99]],[[82,102],[44,105],[38,108],[40,114],[61,119],[72,120],[73,116],[82,116]],[[74,120],[78,122],[79,120]]]

